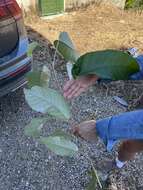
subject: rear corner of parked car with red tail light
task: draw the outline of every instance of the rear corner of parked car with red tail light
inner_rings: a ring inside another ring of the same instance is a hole
[[[22,87],[31,71],[22,10],[15,0],[0,0],[0,97]]]

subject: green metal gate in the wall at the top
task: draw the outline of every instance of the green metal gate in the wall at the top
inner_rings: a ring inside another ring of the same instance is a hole
[[[56,15],[64,12],[64,0],[39,0],[41,16]]]

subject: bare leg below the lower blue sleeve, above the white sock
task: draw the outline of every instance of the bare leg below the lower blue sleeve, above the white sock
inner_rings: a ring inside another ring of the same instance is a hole
[[[143,140],[124,141],[118,151],[118,160],[126,162],[134,158],[136,153],[143,151]]]

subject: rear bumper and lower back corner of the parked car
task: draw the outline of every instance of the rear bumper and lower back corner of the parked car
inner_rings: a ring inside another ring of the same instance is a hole
[[[21,39],[13,58],[0,64],[0,97],[23,86],[25,75],[32,68],[31,58],[27,57],[27,38]],[[10,57],[12,57],[10,55]]]

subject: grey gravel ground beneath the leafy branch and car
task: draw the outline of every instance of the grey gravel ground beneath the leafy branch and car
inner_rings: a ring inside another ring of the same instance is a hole
[[[45,45],[45,40],[33,32],[29,32],[29,37],[40,43],[40,48],[34,53],[34,64],[49,64],[52,56],[49,45]],[[57,64],[59,62],[64,63],[58,58]],[[63,85],[67,77],[64,65],[58,68],[57,76]],[[55,87],[53,79],[51,86]],[[116,103],[112,96],[123,96],[132,104],[141,91],[139,82],[94,86],[71,102],[73,118],[75,122],[80,122],[125,112],[126,109]],[[115,152],[107,153],[100,140],[96,144],[89,144],[74,139],[80,149],[78,155],[74,158],[56,156],[44,145],[24,135],[25,125],[37,115],[26,104],[22,89],[0,99],[0,190],[84,190],[91,168],[86,156],[93,160],[96,168],[106,160],[113,159]],[[59,127],[66,130],[68,125],[49,119],[43,133],[50,134]],[[138,155],[123,170],[114,172],[109,178],[108,189],[143,189],[142,161],[142,155]]]

